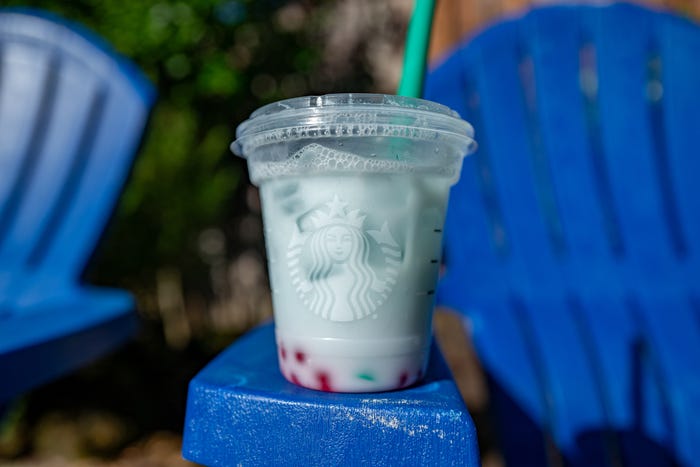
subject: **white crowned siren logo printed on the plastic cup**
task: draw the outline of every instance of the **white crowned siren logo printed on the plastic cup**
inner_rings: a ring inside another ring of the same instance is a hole
[[[287,264],[299,298],[316,315],[354,321],[372,315],[396,284],[401,247],[387,222],[365,230],[366,215],[338,195],[298,219]]]

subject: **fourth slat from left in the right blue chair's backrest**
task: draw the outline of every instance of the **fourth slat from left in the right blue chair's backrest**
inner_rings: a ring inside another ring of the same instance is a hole
[[[590,18],[605,164],[622,233],[624,277],[629,283],[651,285],[672,274],[675,257],[655,154],[654,138],[663,136],[652,126],[648,98],[650,61],[656,56],[654,16],[637,7],[614,5]]]

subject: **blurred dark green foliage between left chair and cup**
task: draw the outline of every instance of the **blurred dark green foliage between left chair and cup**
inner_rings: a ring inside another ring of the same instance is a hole
[[[144,144],[92,279],[142,288],[173,266],[206,274],[198,233],[240,211],[245,164],[235,126],[266,101],[308,90],[317,61],[301,24],[276,20],[287,2],[35,0],[96,32],[158,88]],[[297,10],[299,13],[299,10]],[[303,11],[302,11],[303,13]],[[297,14],[298,18],[298,14]]]

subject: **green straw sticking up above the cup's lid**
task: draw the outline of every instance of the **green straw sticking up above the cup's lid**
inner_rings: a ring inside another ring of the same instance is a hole
[[[434,11],[435,0],[416,0],[416,7],[406,35],[403,73],[398,92],[400,96],[421,97],[423,94],[423,79]]]

